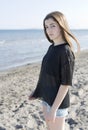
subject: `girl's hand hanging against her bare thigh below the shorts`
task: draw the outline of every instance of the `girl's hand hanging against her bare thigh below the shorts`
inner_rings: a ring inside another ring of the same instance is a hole
[[[51,109],[49,112],[46,112],[45,118],[47,121],[55,122],[56,112],[52,111],[52,109]]]

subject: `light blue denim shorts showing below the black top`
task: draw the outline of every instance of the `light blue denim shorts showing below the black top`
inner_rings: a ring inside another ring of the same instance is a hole
[[[47,112],[50,111],[51,106],[49,106],[45,101],[42,102],[43,106],[45,105],[47,107]],[[65,117],[68,115],[68,108],[58,109],[56,112],[57,117]]]

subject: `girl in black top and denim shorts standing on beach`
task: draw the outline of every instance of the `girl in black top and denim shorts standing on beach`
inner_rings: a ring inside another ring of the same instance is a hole
[[[71,34],[65,16],[58,11],[49,13],[43,21],[46,38],[52,44],[43,58],[39,80],[29,99],[40,98],[49,130],[64,130],[70,105],[69,87],[72,86],[75,56]]]

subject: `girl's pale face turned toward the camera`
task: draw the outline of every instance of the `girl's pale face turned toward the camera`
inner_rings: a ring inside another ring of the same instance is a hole
[[[58,42],[60,40],[61,28],[53,18],[49,18],[45,20],[45,29],[48,37],[54,42]]]

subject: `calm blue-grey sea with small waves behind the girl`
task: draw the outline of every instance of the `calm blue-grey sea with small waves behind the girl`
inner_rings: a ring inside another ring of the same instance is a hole
[[[71,30],[81,45],[88,49],[88,30]],[[50,43],[42,29],[0,30],[0,71],[41,62]]]

